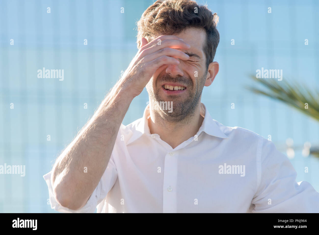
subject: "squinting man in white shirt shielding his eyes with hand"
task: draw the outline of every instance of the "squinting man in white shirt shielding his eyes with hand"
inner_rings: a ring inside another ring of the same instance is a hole
[[[212,119],[217,14],[159,0],[138,22],[138,52],[44,178],[60,212],[319,212],[319,193],[270,140]],[[146,87],[144,116],[124,126]]]

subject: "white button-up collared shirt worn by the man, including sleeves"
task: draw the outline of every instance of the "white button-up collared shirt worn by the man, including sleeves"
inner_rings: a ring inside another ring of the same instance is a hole
[[[144,116],[121,125],[108,166],[85,206],[57,203],[60,212],[214,213],[319,212],[319,193],[297,173],[272,141],[241,127],[204,117],[197,135],[172,148],[151,134]],[[172,133],[174,135],[174,133]],[[226,166],[226,167],[225,167]],[[300,185],[299,185],[300,184]]]

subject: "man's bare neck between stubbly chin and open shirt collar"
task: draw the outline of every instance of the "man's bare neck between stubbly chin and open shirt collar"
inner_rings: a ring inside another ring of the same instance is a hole
[[[173,149],[195,136],[204,120],[200,114],[200,103],[197,105],[194,115],[186,117],[182,122],[169,122],[155,112],[155,110],[150,109],[150,118],[148,118],[150,132],[151,134],[159,134],[161,140]]]

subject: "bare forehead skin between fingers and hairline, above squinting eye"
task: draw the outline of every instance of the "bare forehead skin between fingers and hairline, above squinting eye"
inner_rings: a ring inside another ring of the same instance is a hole
[[[179,34],[175,34],[180,37],[184,42],[188,43],[191,48],[188,52],[196,53],[200,57],[203,57],[203,47],[206,41],[206,32],[202,28],[187,28]]]

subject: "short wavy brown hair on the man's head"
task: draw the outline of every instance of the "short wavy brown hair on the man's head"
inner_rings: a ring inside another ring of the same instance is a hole
[[[206,32],[203,51],[207,69],[213,62],[219,43],[218,19],[218,15],[212,14],[207,6],[191,0],[158,0],[144,11],[137,22],[137,49],[142,37],[150,42],[155,35],[179,34],[189,27],[203,28]]]

